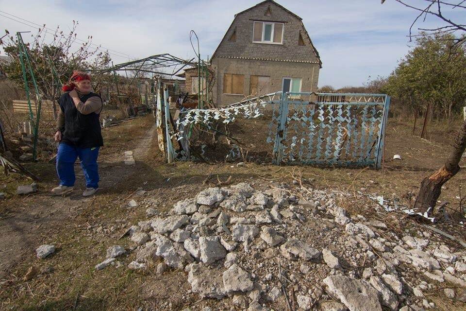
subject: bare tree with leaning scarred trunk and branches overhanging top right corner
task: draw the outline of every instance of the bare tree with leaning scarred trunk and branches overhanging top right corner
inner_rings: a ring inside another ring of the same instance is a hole
[[[425,32],[427,35],[434,33],[453,34],[455,35],[454,42],[451,44],[450,51],[454,54],[457,48],[464,45],[466,42],[466,25],[461,22],[451,20],[446,17],[445,10],[461,11],[466,12],[466,0],[423,0],[424,6],[416,6],[408,3],[406,0],[394,0],[404,6],[411,8],[419,14],[413,21],[409,28],[410,39],[413,36],[424,35],[413,34],[413,27],[419,21],[425,21],[427,16],[437,17],[442,24],[436,28],[417,28],[421,32]],[[382,3],[385,0],[381,1]],[[461,126],[455,141],[453,142],[453,149],[446,159],[445,164],[432,175],[425,177],[419,189],[419,193],[416,198],[415,208],[422,213],[432,214],[437,203],[437,199],[440,196],[442,185],[445,184],[451,177],[460,171],[460,160],[461,156],[466,149],[466,121]]]

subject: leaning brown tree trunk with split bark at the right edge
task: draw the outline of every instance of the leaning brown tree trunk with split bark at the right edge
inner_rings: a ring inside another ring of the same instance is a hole
[[[453,150],[445,164],[429,177],[425,177],[421,182],[419,194],[417,195],[415,208],[421,213],[427,212],[432,214],[437,199],[440,196],[442,185],[445,184],[451,177],[460,171],[458,165],[461,156],[466,149],[466,121],[463,122],[460,132],[453,144]]]

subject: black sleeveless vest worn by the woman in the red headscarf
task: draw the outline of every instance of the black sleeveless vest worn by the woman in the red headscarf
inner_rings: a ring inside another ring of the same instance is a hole
[[[90,92],[80,97],[81,102],[85,103],[92,96],[98,96]],[[65,131],[62,133],[62,141],[68,145],[78,148],[93,148],[103,146],[102,134],[100,132],[99,113],[92,112],[88,115],[83,115],[76,109],[69,92],[63,94],[58,100],[60,108],[65,114]]]

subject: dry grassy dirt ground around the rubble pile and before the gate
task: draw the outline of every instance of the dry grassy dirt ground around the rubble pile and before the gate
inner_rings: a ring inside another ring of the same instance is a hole
[[[264,185],[291,183],[292,176],[299,175],[309,187],[361,190],[399,197],[406,203],[410,193],[418,190],[422,178],[442,165],[454,130],[459,128],[458,124],[433,123],[430,140],[425,140],[419,138],[420,129],[413,135],[412,123],[389,119],[385,168],[374,171],[257,163],[244,167],[223,162],[165,164],[157,147],[154,123],[153,117],[147,116],[103,131],[101,189],[96,196],[81,196],[84,185],[79,166],[75,190],[67,197],[49,195],[57,184],[53,163],[25,165],[41,178],[39,192],[34,195],[15,195],[17,186],[29,184],[30,180],[0,175],[0,191],[7,196],[0,202],[1,310],[137,310],[142,305],[156,306],[167,298],[173,310],[183,310],[195,303],[195,296],[182,300],[189,289],[182,271],[157,276],[151,270],[136,273],[124,267],[94,270],[109,246],[120,244],[126,248],[131,244],[128,238],[118,238],[129,226],[146,219],[146,208],[171,208],[173,203],[206,188],[203,182],[211,172],[220,180],[232,176],[232,183],[251,181]],[[123,163],[123,152],[127,150],[133,150],[135,165]],[[402,160],[393,160],[394,154],[401,155]],[[445,185],[439,198],[449,202],[450,215],[450,222],[439,226],[462,239],[466,230],[459,224],[457,197],[465,176],[464,170],[460,171]],[[153,198],[153,206],[128,207],[130,199],[137,201],[139,189],[148,191],[145,195]],[[361,212],[357,206],[347,208]],[[414,220],[402,224],[409,226],[411,222]],[[41,244],[54,244],[57,250],[47,259],[38,260],[35,249]],[[42,273],[25,281],[22,278],[31,266]]]

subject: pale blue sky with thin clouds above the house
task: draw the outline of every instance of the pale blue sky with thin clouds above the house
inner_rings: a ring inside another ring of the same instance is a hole
[[[415,5],[425,3],[408,1]],[[93,43],[118,51],[110,52],[114,63],[120,63],[128,57],[142,58],[164,52],[192,57],[191,29],[199,35],[200,51],[206,58],[216,49],[234,14],[258,2],[0,0],[0,10],[49,28],[60,25],[68,29],[72,20],[78,20],[78,37],[85,39],[92,35]],[[319,86],[360,86],[369,76],[386,76],[412,46],[407,35],[417,14],[395,0],[386,0],[383,5],[380,0],[277,2],[303,19],[323,63]],[[466,20],[465,13],[451,10],[446,13],[456,20]],[[437,25],[433,17],[417,24],[426,28]],[[10,33],[34,30],[3,16],[0,16],[0,29],[8,29]]]

